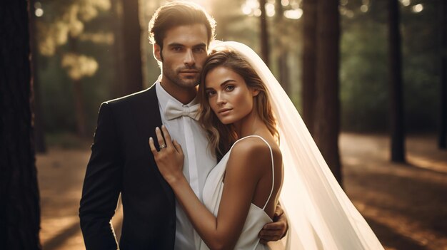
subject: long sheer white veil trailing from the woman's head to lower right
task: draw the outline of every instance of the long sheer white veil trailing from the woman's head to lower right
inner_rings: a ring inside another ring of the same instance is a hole
[[[284,166],[280,200],[289,224],[285,249],[383,249],[333,177],[301,116],[266,64],[243,43],[217,41],[211,45],[221,46],[240,53],[256,69],[266,83],[278,119]]]

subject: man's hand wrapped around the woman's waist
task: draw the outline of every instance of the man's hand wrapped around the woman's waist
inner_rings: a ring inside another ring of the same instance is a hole
[[[278,204],[275,209],[275,215],[273,216],[273,222],[265,224],[258,236],[261,238],[262,244],[267,244],[268,241],[278,241],[286,236],[288,230],[288,223],[286,214]]]

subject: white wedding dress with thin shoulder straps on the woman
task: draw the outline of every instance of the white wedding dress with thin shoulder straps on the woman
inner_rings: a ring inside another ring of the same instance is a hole
[[[258,137],[259,139],[266,142],[263,137],[258,135],[249,135],[247,137],[243,137],[236,142],[234,142],[233,146],[230,150],[222,157],[222,160],[214,167],[213,170],[209,173],[208,177],[206,177],[205,185],[204,185],[204,193],[203,193],[203,201],[207,209],[217,217],[217,212],[219,211],[219,204],[221,203],[222,191],[224,190],[224,173],[226,170],[226,164],[228,162],[228,158],[230,157],[231,150],[237,142],[246,139],[248,137]],[[268,142],[266,142],[268,145]],[[271,194],[273,192],[274,185],[274,169],[273,169],[273,152],[271,150],[270,145],[268,145],[270,149],[271,156],[271,171],[273,172],[273,182],[271,186],[270,195],[268,195],[268,199],[266,204],[268,204],[268,200],[270,200]],[[241,166],[243,167],[243,166]],[[268,217],[264,209],[266,207],[257,207],[255,204],[251,203],[250,209],[248,210],[247,218],[245,224],[243,224],[243,229],[241,236],[236,243],[234,249],[237,250],[263,250],[269,249],[268,246],[259,243],[259,231],[261,231],[262,227],[272,222],[271,218]],[[201,241],[200,250],[208,250],[208,246],[206,246],[204,241]]]

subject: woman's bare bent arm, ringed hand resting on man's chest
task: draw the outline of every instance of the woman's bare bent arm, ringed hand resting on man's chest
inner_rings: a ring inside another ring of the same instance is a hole
[[[161,175],[171,185],[206,245],[210,249],[233,249],[246,221],[256,184],[264,170],[271,171],[268,147],[253,144],[250,140],[238,142],[233,147],[226,166],[225,187],[218,216],[214,217],[196,197],[181,171],[184,157],[181,146],[175,141],[171,142],[165,127],[162,130],[166,142],[160,130],[156,134],[159,145],[166,143],[165,148],[157,152],[154,141],[149,141]]]

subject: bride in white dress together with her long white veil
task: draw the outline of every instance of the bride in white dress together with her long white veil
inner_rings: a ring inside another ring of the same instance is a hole
[[[156,130],[166,147],[157,151],[152,138],[149,145],[201,236],[201,249],[268,249],[258,231],[271,222],[279,199],[291,226],[283,249],[383,249],[251,48],[216,44],[202,71],[199,100],[209,150],[221,159],[206,179],[203,204],[183,175],[181,145],[166,127]]]

